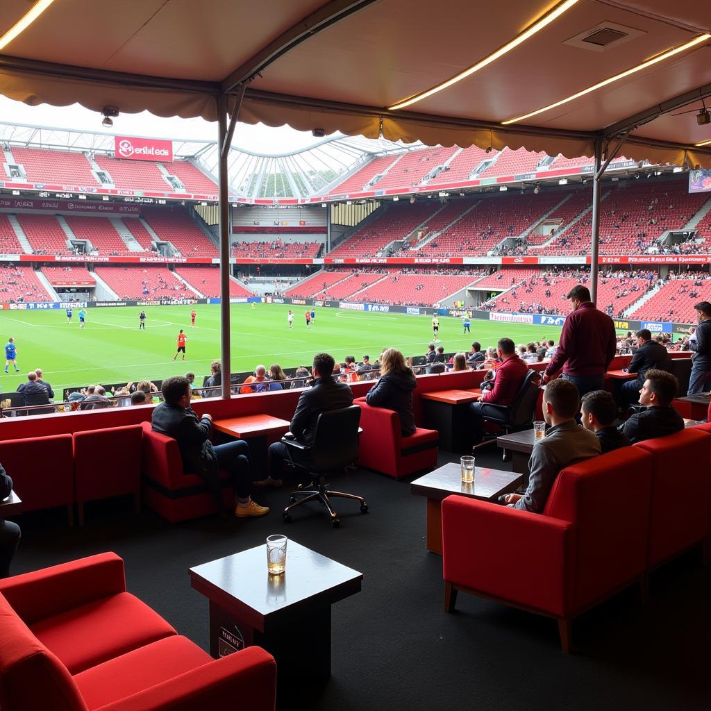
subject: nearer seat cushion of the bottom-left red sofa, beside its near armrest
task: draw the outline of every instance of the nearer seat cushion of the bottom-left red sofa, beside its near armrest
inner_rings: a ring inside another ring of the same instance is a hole
[[[211,661],[188,638],[171,636],[87,669],[74,682],[91,711]]]

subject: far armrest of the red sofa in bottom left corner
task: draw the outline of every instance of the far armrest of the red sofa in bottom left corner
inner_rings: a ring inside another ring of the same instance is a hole
[[[0,592],[26,624],[125,591],[124,562],[115,553],[0,580]]]

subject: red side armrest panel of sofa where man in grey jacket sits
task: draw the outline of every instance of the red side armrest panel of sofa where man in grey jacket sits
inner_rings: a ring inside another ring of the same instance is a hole
[[[444,579],[546,614],[565,616],[574,525],[462,496],[442,502]]]

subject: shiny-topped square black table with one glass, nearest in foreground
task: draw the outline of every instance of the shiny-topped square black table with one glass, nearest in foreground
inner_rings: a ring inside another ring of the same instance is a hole
[[[210,601],[210,654],[258,645],[274,655],[279,680],[331,675],[331,605],[360,592],[363,573],[287,544],[287,570],[267,573],[267,546],[190,569]]]

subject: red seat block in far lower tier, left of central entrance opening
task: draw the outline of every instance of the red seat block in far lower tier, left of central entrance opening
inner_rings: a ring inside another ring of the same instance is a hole
[[[385,281],[360,292],[358,301],[432,306],[476,282],[477,278],[471,275],[392,274]]]

